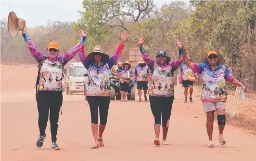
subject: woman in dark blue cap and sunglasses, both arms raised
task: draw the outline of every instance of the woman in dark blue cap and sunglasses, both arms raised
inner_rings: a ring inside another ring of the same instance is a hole
[[[154,143],[160,145],[160,125],[162,118],[163,127],[163,145],[170,145],[167,142],[167,133],[169,129],[169,120],[172,111],[172,104],[174,99],[174,84],[173,73],[183,63],[183,47],[181,42],[175,40],[176,46],[179,48],[178,58],[175,61],[170,61],[170,57],[163,50],[156,54],[156,61],[149,57],[147,51],[144,49],[145,35],[142,34],[138,40],[138,46],[146,65],[151,71],[151,80],[149,83],[149,102],[150,108],[154,118],[154,129],[156,139]]]

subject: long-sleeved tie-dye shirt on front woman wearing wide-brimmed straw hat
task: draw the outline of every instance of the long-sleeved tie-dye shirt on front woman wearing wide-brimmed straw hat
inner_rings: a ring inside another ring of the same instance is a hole
[[[99,67],[98,65],[87,58],[84,54],[84,46],[79,50],[79,57],[84,67],[88,69],[88,83],[86,96],[108,96],[110,97],[110,77],[111,68],[117,62],[123,51],[124,45],[119,44],[116,52]]]

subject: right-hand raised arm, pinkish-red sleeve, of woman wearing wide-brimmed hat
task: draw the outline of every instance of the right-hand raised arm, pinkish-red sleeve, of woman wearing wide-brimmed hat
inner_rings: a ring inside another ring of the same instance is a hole
[[[123,51],[124,42],[128,36],[129,36],[129,32],[127,32],[127,31],[125,31],[124,34],[121,36],[121,42],[119,43],[119,46],[118,46],[116,52],[114,52],[114,54],[108,60],[109,68],[112,68],[114,63],[116,63],[118,58],[120,57],[120,55]]]

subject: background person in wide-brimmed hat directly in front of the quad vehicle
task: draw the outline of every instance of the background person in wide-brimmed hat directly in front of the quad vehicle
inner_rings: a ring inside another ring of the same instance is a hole
[[[120,78],[120,93],[121,93],[121,101],[127,101],[127,94],[129,90],[129,84],[131,82],[131,77],[133,76],[133,71],[131,69],[131,64],[129,61],[125,61],[122,64],[122,69],[118,70],[118,77]]]

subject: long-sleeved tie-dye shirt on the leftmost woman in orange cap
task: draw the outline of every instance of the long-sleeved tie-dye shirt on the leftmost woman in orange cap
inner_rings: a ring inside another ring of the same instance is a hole
[[[25,44],[29,48],[31,55],[35,58],[37,63],[40,63],[42,58],[45,57],[45,61],[40,70],[40,80],[39,80],[39,91],[62,91],[62,83],[60,81],[62,77],[62,67],[58,58],[61,57],[63,66],[66,65],[79,51],[80,47],[86,40],[86,37],[82,37],[81,40],[66,54],[61,56],[57,54],[54,60],[48,58],[48,54],[42,54],[34,45],[34,43],[29,38],[28,33],[22,34]]]

